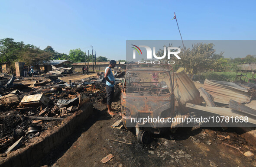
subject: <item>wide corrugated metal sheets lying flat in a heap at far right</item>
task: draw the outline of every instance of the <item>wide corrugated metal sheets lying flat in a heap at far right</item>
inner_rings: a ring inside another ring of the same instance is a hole
[[[229,104],[230,99],[238,103],[249,103],[252,94],[235,83],[220,82],[216,80],[204,80],[204,89],[214,96],[214,101]]]

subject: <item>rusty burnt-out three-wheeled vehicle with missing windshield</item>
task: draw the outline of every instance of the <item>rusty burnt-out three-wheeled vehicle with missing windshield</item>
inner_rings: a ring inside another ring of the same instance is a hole
[[[174,73],[169,64],[130,64],[121,91],[123,125],[134,130],[139,143],[150,134],[171,128],[175,117]],[[161,119],[161,120],[160,120]]]

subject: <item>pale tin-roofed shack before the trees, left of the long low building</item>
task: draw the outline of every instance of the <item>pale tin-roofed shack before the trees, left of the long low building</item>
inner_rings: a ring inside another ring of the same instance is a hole
[[[54,65],[55,67],[67,67],[66,64],[71,64],[71,62],[68,60],[51,60],[39,64],[39,67],[40,71],[48,72],[52,71],[52,65]]]

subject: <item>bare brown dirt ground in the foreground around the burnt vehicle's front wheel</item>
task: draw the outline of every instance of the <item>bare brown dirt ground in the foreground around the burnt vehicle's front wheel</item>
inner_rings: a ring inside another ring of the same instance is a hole
[[[118,103],[114,103],[116,108]],[[120,119],[119,114],[108,115],[105,105],[94,104],[94,115],[35,166],[256,166],[255,155],[246,157],[222,144],[256,153],[256,147],[233,129],[223,132],[220,128],[178,128],[175,133],[154,135],[149,145],[141,145],[133,132],[111,128],[110,125]],[[221,141],[217,135],[229,135],[230,139]],[[106,164],[100,162],[108,154],[114,157]]]

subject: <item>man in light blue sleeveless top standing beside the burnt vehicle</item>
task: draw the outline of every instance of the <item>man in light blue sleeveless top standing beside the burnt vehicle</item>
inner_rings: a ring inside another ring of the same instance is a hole
[[[111,103],[114,97],[114,85],[115,85],[115,78],[113,76],[111,68],[116,67],[116,64],[117,64],[116,61],[111,60],[109,62],[108,67],[106,67],[105,69],[105,75],[104,75],[104,78],[106,79],[106,91],[107,91],[107,112],[110,115],[113,115]]]

